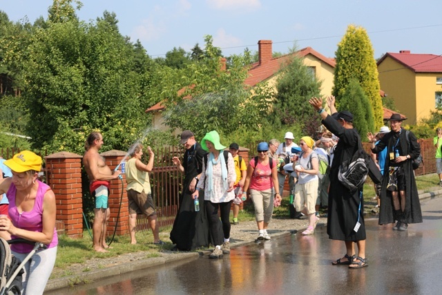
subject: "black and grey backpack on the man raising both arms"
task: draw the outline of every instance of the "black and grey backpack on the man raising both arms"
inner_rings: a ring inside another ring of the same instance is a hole
[[[338,180],[351,193],[362,187],[367,179],[369,160],[370,157],[365,153],[358,137],[358,149],[351,159],[341,162],[338,171]]]

